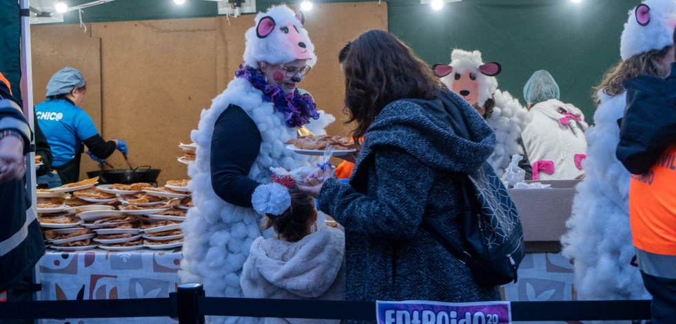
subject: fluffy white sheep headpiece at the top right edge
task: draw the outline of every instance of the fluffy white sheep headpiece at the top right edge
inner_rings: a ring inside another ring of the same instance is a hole
[[[629,12],[629,19],[624,24],[619,47],[622,60],[673,45],[675,27],[676,1],[643,1]]]

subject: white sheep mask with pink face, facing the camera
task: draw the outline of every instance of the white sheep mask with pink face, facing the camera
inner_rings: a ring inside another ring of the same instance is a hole
[[[502,66],[497,62],[484,64],[479,51],[453,50],[450,65],[435,64],[433,69],[449,89],[470,105],[482,107],[498,89],[495,76],[500,74]]]

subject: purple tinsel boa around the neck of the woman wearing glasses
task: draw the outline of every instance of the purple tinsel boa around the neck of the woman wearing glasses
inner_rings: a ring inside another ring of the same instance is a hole
[[[310,122],[310,118],[318,119],[319,113],[316,105],[309,94],[300,94],[294,89],[293,94],[285,94],[284,90],[276,85],[268,85],[267,78],[260,69],[239,66],[235,76],[249,80],[252,87],[263,91],[263,100],[274,103],[275,111],[284,114],[284,122],[287,127],[303,127]]]

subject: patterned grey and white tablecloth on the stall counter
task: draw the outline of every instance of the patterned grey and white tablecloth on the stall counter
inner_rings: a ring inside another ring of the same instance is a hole
[[[109,252],[48,250],[40,260],[41,300],[162,298],[181,283],[181,250]],[[575,299],[573,265],[556,253],[528,253],[518,283],[504,285],[507,301]],[[50,319],[41,323],[123,323],[120,318]],[[129,318],[124,323],[178,323],[171,318]],[[580,323],[580,322],[553,322]]]

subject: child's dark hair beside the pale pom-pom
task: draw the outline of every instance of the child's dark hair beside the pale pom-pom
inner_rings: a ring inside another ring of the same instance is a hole
[[[272,227],[279,239],[297,242],[310,233],[310,218],[314,215],[315,204],[314,199],[297,186],[289,189],[289,195],[291,206],[282,215],[267,214],[260,228],[267,230]]]

